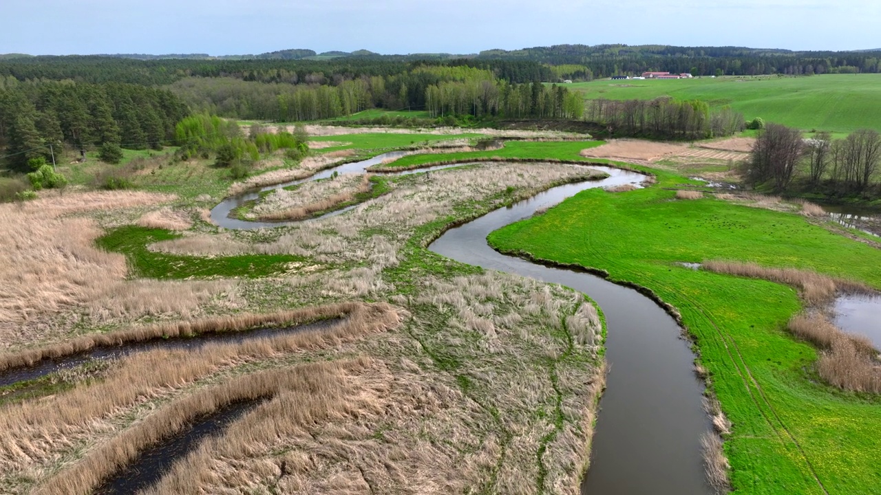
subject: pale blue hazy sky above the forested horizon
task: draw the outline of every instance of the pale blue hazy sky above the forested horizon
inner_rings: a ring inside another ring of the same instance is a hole
[[[0,0],[0,54],[470,54],[555,44],[881,48],[877,0]]]

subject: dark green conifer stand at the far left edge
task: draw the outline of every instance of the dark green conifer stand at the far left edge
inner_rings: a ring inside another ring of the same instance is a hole
[[[28,160],[102,144],[161,148],[189,109],[172,92],[108,83],[4,81],[0,85],[0,155],[28,170]]]

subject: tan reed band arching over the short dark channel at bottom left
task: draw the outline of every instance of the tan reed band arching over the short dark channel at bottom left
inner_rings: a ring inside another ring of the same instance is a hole
[[[248,414],[246,421],[240,421],[240,427],[233,430],[235,437],[225,437],[227,443],[241,442],[239,449],[254,448],[255,442],[268,441],[272,436],[284,434],[287,429],[295,432],[302,426],[327,421],[330,417],[357,413],[357,406],[361,404],[346,400],[357,393],[346,383],[346,375],[358,373],[368,365],[366,358],[307,364],[287,370],[254,373],[224,385],[198,390],[95,448],[85,459],[50,478],[33,492],[72,495],[93,491],[116,470],[137,459],[138,453],[144,448],[181,432],[196,417],[211,415],[235,402],[277,397],[277,404],[273,404],[276,407],[263,407],[261,409],[264,410]],[[289,407],[278,407],[280,403]],[[276,428],[241,428],[241,424],[254,423],[255,418],[261,415],[265,417],[267,412],[280,413],[280,417],[275,417],[278,421]],[[188,459],[190,463],[194,463],[191,459]]]

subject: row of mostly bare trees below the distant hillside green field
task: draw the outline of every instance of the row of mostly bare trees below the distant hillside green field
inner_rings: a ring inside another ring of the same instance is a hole
[[[744,115],[722,107],[710,111],[700,100],[589,100],[585,119],[611,135],[664,139],[731,136],[744,129]]]

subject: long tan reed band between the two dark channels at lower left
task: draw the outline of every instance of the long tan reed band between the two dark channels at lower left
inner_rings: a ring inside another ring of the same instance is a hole
[[[80,386],[37,403],[0,411],[0,472],[37,469],[57,462],[59,449],[113,429],[108,415],[124,413],[151,397],[216,374],[230,366],[292,351],[317,351],[396,327],[389,305],[356,305],[340,324],[323,330],[278,334],[241,344],[210,344],[196,351],[150,351],[120,360],[100,383]],[[38,469],[39,470],[39,469]]]

